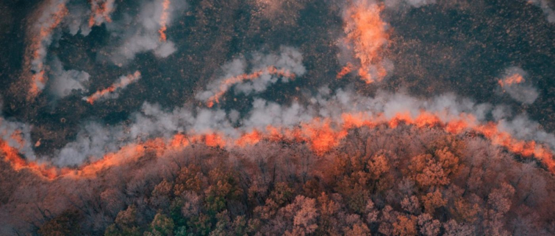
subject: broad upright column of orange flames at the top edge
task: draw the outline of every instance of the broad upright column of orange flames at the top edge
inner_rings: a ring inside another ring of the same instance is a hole
[[[345,12],[344,42],[355,52],[355,58],[360,63],[358,75],[366,84],[379,82],[387,74],[382,65],[382,52],[389,35],[386,32],[387,24],[379,16],[382,10],[383,6],[376,3],[355,1]],[[336,77],[342,78],[353,69],[352,64],[347,64]]]

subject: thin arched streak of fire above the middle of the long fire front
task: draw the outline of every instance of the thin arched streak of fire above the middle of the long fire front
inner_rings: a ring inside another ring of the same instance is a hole
[[[243,82],[245,80],[255,80],[255,79],[259,78],[260,76],[264,75],[264,73],[268,73],[270,75],[278,75],[280,77],[291,78],[291,79],[295,78],[294,73],[291,73],[286,69],[277,69],[277,68],[275,68],[275,66],[268,66],[266,69],[261,69],[259,71],[255,71],[255,72],[250,73],[250,74],[245,73],[245,74],[237,75],[237,76],[234,76],[234,77],[231,77],[231,78],[225,78],[224,80],[222,80],[220,82],[219,91],[214,93],[214,95],[212,97],[208,98],[208,100],[206,101],[207,107],[213,107],[214,102],[215,103],[220,103],[220,98],[234,84],[239,84],[240,82]]]

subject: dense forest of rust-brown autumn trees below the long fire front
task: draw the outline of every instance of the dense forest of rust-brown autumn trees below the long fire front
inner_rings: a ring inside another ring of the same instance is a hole
[[[554,178],[538,163],[473,134],[404,125],[352,130],[324,156],[299,143],[193,145],[148,154],[80,186],[65,190],[65,208],[37,204],[32,214],[42,220],[33,221],[33,232],[555,234]]]

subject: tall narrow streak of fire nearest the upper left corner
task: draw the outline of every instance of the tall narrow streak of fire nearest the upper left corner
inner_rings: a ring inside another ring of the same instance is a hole
[[[44,85],[48,78],[44,75],[44,57],[46,57],[46,48],[52,37],[52,31],[60,25],[62,19],[68,14],[65,3],[60,3],[54,12],[50,12],[45,22],[40,22],[40,28],[37,35],[31,41],[31,85],[28,91],[28,98],[32,99],[44,89]]]

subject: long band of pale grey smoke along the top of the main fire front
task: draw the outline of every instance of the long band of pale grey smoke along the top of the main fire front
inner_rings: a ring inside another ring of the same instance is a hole
[[[456,120],[462,113],[472,114],[477,124],[491,121],[490,117],[502,118],[499,129],[516,138],[536,140],[555,148],[555,136],[542,129],[538,123],[525,115],[513,119],[506,117],[504,109],[489,104],[476,104],[472,100],[459,98],[454,94],[444,94],[429,100],[413,98],[406,93],[378,91],[374,97],[360,96],[354,91],[327,87],[319,89],[314,96],[305,98],[303,105],[293,102],[279,105],[262,99],[253,102],[253,108],[246,114],[237,111],[226,113],[222,109],[196,107],[177,107],[173,110],[162,109],[160,105],[145,102],[141,111],[131,115],[130,122],[116,126],[106,126],[99,122],[88,122],[77,135],[76,140],[68,143],[52,156],[58,166],[79,165],[94,161],[108,152],[114,152],[124,145],[149,138],[169,138],[173,134],[212,134],[217,132],[230,138],[238,138],[253,129],[264,130],[268,125],[274,127],[296,127],[314,118],[327,118],[341,123],[343,113],[361,113],[362,116],[384,114],[393,118],[399,113],[407,113],[413,118],[420,111],[436,112],[443,122]],[[21,129],[25,140],[30,140],[28,129],[10,124],[9,130]],[[9,135],[9,134],[8,134]],[[7,139],[9,140],[9,139]],[[28,142],[26,142],[28,143]],[[32,150],[26,152],[33,155]]]

